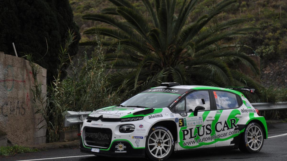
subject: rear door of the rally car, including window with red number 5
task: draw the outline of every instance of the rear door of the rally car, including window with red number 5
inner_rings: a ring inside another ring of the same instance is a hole
[[[241,98],[227,91],[212,91],[212,94],[217,109],[214,124],[216,147],[233,146],[240,139],[241,120],[245,117],[240,111]]]

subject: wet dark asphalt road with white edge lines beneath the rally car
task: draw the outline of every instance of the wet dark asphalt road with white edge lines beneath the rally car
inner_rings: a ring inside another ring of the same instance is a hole
[[[201,150],[189,152],[174,153],[169,160],[172,161],[185,161],[185,160],[287,160],[287,135],[278,136],[287,133],[287,123],[275,123],[268,126],[268,137],[276,136],[264,140],[263,148],[259,153],[247,154],[239,150]],[[59,158],[62,157],[62,158]],[[49,158],[49,159],[44,159]],[[110,160],[112,158],[93,156],[90,154],[81,153],[78,148],[62,148],[53,149],[48,151],[16,154],[11,157],[0,157],[0,160]],[[118,160],[119,158],[114,158]],[[141,158],[121,158],[125,161],[144,161]]]

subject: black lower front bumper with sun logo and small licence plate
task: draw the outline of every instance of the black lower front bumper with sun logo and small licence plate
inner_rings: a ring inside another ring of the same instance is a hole
[[[118,144],[126,146],[123,151],[119,151],[116,146]],[[108,156],[108,157],[125,157],[125,158],[144,158],[145,148],[133,148],[127,140],[115,140],[111,143],[108,149],[100,149],[99,152],[92,152],[92,148],[85,146],[83,139],[81,138],[80,149],[83,153],[94,154],[96,156]]]

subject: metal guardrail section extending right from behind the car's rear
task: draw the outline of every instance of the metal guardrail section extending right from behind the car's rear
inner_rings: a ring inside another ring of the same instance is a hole
[[[251,105],[259,111],[281,110],[287,109],[287,102],[276,103],[251,103]]]

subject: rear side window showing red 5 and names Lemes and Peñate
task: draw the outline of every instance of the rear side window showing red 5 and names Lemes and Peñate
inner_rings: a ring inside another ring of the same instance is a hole
[[[238,107],[236,95],[224,91],[213,91],[217,109],[234,109]]]

